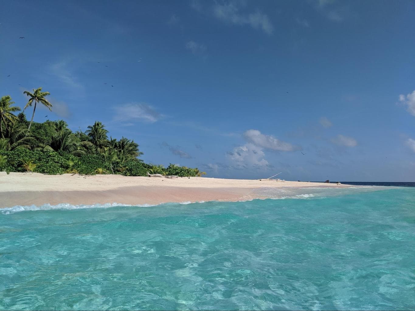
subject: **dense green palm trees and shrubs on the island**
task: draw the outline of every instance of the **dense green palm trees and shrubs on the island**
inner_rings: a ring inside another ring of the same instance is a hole
[[[45,99],[50,93],[42,92],[41,87],[23,93],[29,97],[24,109],[34,104],[30,121],[24,112],[14,114],[20,108],[9,95],[0,98],[0,171],[125,176],[147,176],[148,172],[181,177],[206,174],[186,166],[146,164],[139,159],[143,153],[136,142],[125,137],[108,138],[105,125],[99,121],[85,132],[71,131],[63,120],[33,122],[38,103],[51,110],[52,104]]]

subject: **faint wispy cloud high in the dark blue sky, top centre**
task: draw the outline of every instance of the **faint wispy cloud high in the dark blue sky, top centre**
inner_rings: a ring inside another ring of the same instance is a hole
[[[216,4],[213,6],[213,15],[224,22],[236,25],[250,25],[254,29],[261,29],[266,34],[272,34],[274,27],[267,15],[259,11],[242,15],[239,8],[234,3]]]

